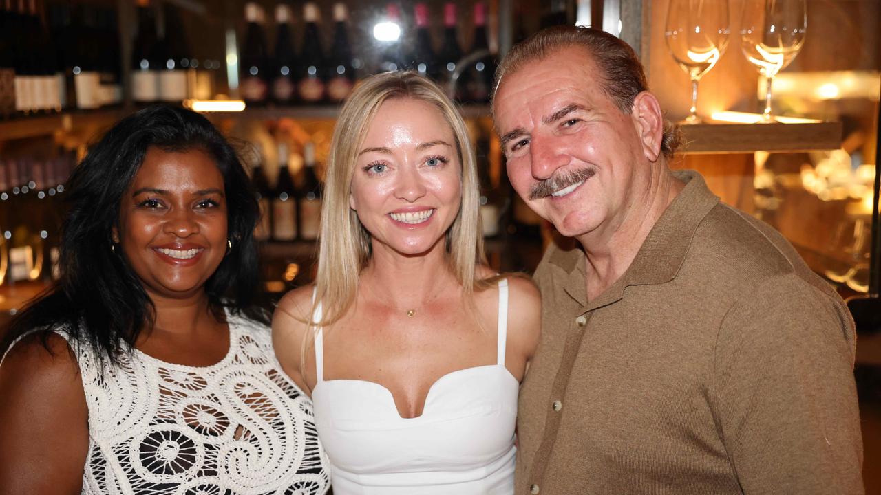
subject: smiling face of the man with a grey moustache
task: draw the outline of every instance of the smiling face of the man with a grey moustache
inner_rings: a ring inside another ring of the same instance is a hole
[[[613,232],[645,194],[654,134],[640,108],[627,115],[603,91],[600,71],[581,48],[563,48],[501,80],[494,119],[517,193],[559,233]]]

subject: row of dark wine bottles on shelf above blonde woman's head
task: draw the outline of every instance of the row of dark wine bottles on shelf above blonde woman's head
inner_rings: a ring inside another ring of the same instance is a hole
[[[289,5],[275,8],[274,49],[267,41],[267,22],[263,7],[245,4],[248,26],[240,50],[241,95],[252,105],[274,102],[278,105],[338,103],[352,91],[355,81],[366,74],[386,70],[418,70],[439,84],[450,87],[451,96],[463,102],[485,103],[489,99],[495,59],[489,51],[486,7],[474,4],[474,33],[465,51],[459,42],[456,5],[443,4],[443,38],[432,39],[428,4],[413,7],[415,44],[405,47],[402,12],[398,4],[388,4],[374,24],[373,43],[377,60],[367,68],[363,54],[352,49],[349,15],[345,4],[333,5],[333,42],[329,52],[322,47],[322,12],[318,4],[303,6],[300,50],[295,50],[293,13]]]

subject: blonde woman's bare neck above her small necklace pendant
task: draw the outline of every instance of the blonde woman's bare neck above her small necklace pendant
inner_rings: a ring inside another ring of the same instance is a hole
[[[443,238],[421,255],[402,255],[375,240],[373,247],[360,277],[371,299],[378,297],[391,306],[410,309],[437,297],[442,288],[458,285],[449,269]]]

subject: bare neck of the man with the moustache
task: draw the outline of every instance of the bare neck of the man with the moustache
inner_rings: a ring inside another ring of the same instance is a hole
[[[618,218],[577,237],[587,255],[589,300],[605,292],[630,268],[658,218],[685,187],[663,159],[650,165],[648,181],[644,183],[645,187],[633,189],[633,194],[625,199],[626,207]]]

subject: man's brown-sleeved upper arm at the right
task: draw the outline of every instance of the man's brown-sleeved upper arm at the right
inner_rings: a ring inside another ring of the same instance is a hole
[[[862,493],[862,437],[840,301],[775,277],[716,342],[717,425],[746,493]]]

